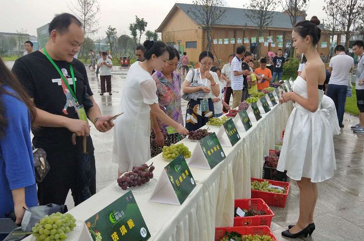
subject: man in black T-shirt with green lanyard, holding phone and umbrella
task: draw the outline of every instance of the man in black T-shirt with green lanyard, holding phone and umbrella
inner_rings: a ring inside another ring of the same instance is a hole
[[[40,205],[64,204],[70,189],[75,204],[80,203],[76,176],[82,158],[83,136],[87,136],[87,151],[91,159],[90,192],[96,193],[90,126],[78,118],[75,107],[84,105],[87,118],[100,132],[110,130],[113,123],[108,121],[110,116],[101,115],[92,97],[85,65],[74,58],[83,40],[82,24],[75,16],[57,15],[49,24],[49,39],[45,47],[19,58],[12,69],[37,107],[37,126],[32,129],[33,144],[46,151],[50,166],[44,180],[38,183]],[[73,133],[78,136],[76,145],[71,141]]]

